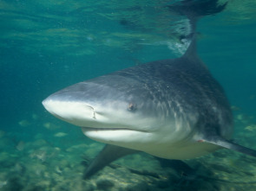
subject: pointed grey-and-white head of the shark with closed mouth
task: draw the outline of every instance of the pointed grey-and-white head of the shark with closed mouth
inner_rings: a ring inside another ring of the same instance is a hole
[[[43,105],[56,118],[81,126],[87,137],[144,150],[145,143],[161,142],[162,134],[173,131],[166,105],[156,97],[138,80],[107,75],[56,92]]]

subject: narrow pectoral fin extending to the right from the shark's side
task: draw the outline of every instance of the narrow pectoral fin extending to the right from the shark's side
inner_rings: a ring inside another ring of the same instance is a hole
[[[246,155],[256,157],[256,150],[246,148],[237,143],[232,143],[231,141],[227,141],[225,138],[222,138],[222,137],[206,138],[206,139],[200,140],[199,142],[213,143],[229,150],[236,150],[240,153],[244,153]]]

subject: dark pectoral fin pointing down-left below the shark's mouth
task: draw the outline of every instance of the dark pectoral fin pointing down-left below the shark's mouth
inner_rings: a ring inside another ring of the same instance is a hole
[[[96,172],[103,169],[110,162],[115,161],[122,156],[127,156],[139,152],[138,150],[130,150],[123,147],[107,144],[102,151],[90,162],[89,167],[83,174],[83,178],[87,179],[91,175],[95,175]]]

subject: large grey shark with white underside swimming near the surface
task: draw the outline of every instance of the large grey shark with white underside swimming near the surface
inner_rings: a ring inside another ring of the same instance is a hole
[[[226,148],[256,156],[230,141],[233,115],[225,92],[196,52],[195,23],[209,3],[170,7],[188,17],[190,45],[180,58],[129,67],[55,92],[43,106],[56,118],[82,127],[85,136],[106,143],[90,163],[88,178],[121,156],[143,151],[165,159],[191,159]],[[194,1],[195,2],[195,1]],[[200,1],[198,1],[200,2]]]

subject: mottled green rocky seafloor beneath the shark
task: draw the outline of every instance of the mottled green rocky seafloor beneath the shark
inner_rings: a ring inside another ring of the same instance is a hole
[[[252,147],[256,135],[253,120],[241,113],[235,115],[239,133],[235,133],[233,141]],[[20,128],[29,125],[27,119],[19,122]],[[1,191],[256,190],[256,159],[232,150],[185,161],[189,166],[136,154],[113,162],[89,180],[82,180],[88,162],[103,144],[82,139],[69,142],[69,134],[56,124],[42,125],[52,133],[51,141],[38,133],[32,141],[16,142],[18,135],[14,132],[0,131]]]

